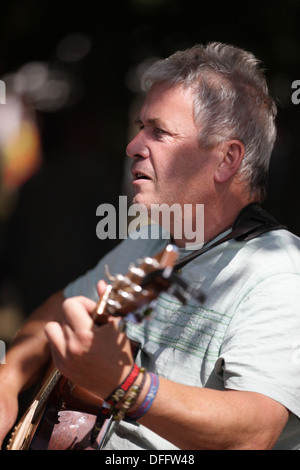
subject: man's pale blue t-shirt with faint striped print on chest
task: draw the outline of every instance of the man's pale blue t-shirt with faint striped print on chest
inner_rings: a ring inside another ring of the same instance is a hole
[[[65,289],[97,299],[96,284],[125,274],[166,240],[128,238]],[[180,249],[184,257],[190,251]],[[291,412],[276,449],[300,449],[300,240],[276,230],[248,242],[227,241],[187,264],[182,277],[206,296],[183,306],[164,292],[153,316],[128,324],[138,360],[175,382],[264,394]],[[107,449],[176,449],[142,425],[122,421]]]

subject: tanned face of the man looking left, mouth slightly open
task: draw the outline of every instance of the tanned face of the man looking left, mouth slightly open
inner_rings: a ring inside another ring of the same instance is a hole
[[[205,204],[214,188],[216,150],[199,145],[191,91],[154,85],[137,120],[139,132],[128,144],[133,158],[134,203]]]

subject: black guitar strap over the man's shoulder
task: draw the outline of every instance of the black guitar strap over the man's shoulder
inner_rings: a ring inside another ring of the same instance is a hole
[[[236,241],[248,241],[259,237],[263,233],[270,230],[286,229],[287,227],[279,223],[272,215],[262,209],[258,204],[251,203],[244,207],[237,216],[232,231],[225,237],[217,240],[211,245],[204,245],[200,250],[194,251],[186,258],[182,259],[175,265],[175,271],[183,268],[187,263],[206,253],[217,245],[224,243],[233,238]]]

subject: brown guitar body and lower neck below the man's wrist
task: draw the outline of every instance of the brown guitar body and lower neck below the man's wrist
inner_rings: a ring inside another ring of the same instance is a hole
[[[97,450],[107,431],[107,420],[91,444],[101,400],[61,377],[38,419],[34,400],[13,431],[8,450]]]

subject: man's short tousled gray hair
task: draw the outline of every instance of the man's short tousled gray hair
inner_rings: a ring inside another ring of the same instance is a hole
[[[158,82],[194,90],[194,117],[203,148],[230,139],[244,144],[239,176],[247,182],[251,195],[263,200],[277,110],[260,61],[228,44],[196,45],[150,66],[142,78],[144,91]]]

